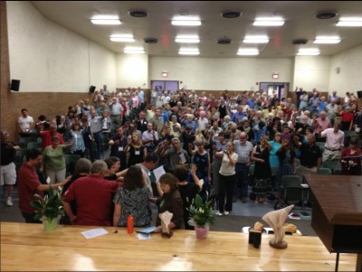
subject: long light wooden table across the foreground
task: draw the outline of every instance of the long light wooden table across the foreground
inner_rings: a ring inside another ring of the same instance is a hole
[[[194,230],[176,230],[171,239],[159,233],[139,240],[126,229],[104,228],[109,234],[85,239],[94,227],[59,226],[44,232],[39,224],[1,222],[1,271],[138,270],[138,271],[333,271],[334,256],[318,237],[286,236],[288,249],[273,249],[263,234],[259,249],[248,234],[210,231],[195,239]],[[356,256],[342,254],[339,267],[353,271]]]

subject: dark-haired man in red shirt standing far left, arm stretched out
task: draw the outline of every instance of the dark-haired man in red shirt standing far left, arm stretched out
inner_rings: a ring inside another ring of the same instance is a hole
[[[26,162],[20,167],[17,190],[19,192],[19,208],[22,211],[26,223],[40,223],[40,220],[33,220],[35,208],[29,202],[35,201],[35,193],[43,197],[43,191],[49,190],[48,184],[42,184],[39,181],[35,166],[42,162],[42,152],[38,149],[29,149],[26,152]],[[52,184],[52,189],[57,189],[58,186],[63,186],[71,180],[71,176],[67,177],[62,183]]]

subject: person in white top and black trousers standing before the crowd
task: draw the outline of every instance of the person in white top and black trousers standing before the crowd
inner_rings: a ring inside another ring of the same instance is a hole
[[[252,164],[252,143],[247,139],[248,135],[243,131],[240,133],[239,140],[233,141],[235,153],[238,154],[238,160],[235,165],[233,202],[237,201],[238,188],[241,188],[240,198],[243,203],[246,203],[248,196],[248,174],[249,166]]]

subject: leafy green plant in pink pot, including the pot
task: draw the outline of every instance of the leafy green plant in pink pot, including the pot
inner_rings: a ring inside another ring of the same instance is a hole
[[[206,239],[210,225],[214,225],[216,211],[213,210],[211,201],[203,202],[202,197],[196,194],[195,200],[187,209],[190,211],[190,224],[195,226],[197,239]]]

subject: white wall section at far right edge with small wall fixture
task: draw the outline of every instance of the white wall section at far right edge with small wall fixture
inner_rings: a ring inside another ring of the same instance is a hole
[[[336,68],[339,67],[339,73]],[[362,90],[362,45],[334,55],[330,61],[329,92],[337,90],[341,97],[346,92]]]

